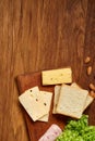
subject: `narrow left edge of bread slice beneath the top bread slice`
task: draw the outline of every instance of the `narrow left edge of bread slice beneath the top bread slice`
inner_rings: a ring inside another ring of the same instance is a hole
[[[56,108],[59,100],[59,94],[60,94],[60,88],[61,86],[55,86],[55,98],[54,98],[54,110],[52,114],[56,114]]]

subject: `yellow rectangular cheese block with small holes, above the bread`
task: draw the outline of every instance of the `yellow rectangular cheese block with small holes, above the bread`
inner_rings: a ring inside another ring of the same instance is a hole
[[[43,85],[71,84],[72,70],[71,68],[60,68],[51,70],[43,70]]]

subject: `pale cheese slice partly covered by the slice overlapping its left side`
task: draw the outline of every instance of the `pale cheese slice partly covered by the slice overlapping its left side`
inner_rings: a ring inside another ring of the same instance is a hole
[[[50,112],[50,105],[51,105],[51,98],[52,98],[52,92],[47,92],[47,91],[40,91],[40,95],[44,100],[45,106],[47,106],[48,114],[39,118],[38,120],[40,121],[48,121],[49,118],[49,112]]]

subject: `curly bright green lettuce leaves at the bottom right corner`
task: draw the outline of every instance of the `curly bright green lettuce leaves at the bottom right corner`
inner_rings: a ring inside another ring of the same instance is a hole
[[[95,141],[95,126],[88,126],[88,116],[70,120],[56,141]]]

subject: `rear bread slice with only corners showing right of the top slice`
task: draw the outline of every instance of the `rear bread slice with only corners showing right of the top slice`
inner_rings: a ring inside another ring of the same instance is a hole
[[[74,87],[76,89],[82,89],[78,84],[73,82],[71,85],[71,87]],[[87,95],[86,97],[86,101],[85,101],[85,104],[84,104],[84,107],[83,107],[83,112],[86,110],[86,107],[93,102],[94,98],[92,95]]]

